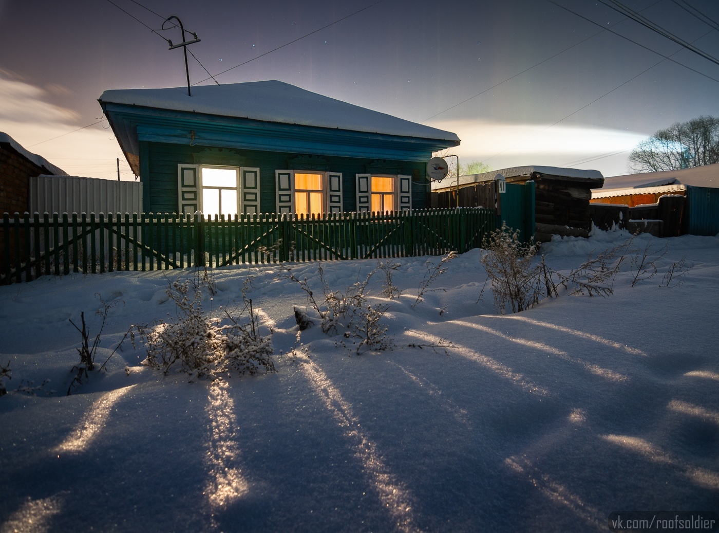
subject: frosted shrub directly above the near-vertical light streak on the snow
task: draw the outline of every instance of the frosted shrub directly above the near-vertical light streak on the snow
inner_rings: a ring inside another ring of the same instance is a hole
[[[179,368],[191,380],[275,371],[272,341],[260,335],[252,300],[246,302],[249,321],[240,322],[227,311],[223,319],[206,314],[202,292],[191,293],[189,281],[173,282],[167,293],[177,306],[177,319],[136,327],[147,348],[146,365],[165,374]]]

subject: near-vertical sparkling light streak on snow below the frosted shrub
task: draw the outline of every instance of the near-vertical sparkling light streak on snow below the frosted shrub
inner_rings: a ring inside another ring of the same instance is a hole
[[[234,400],[227,393],[225,381],[214,381],[210,386],[207,414],[210,418],[211,437],[207,461],[210,465],[210,479],[205,493],[214,508],[231,504],[247,493],[247,480],[237,468],[240,457],[235,439],[237,416],[234,414]]]

